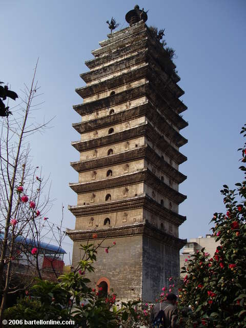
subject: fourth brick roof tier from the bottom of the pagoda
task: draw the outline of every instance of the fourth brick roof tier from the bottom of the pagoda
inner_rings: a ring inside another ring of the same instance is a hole
[[[148,145],[138,149],[124,151],[122,153],[110,156],[88,159],[85,161],[71,162],[70,165],[77,172],[85,172],[96,170],[99,168],[110,167],[122,163],[128,163],[138,159],[146,159],[151,161],[158,169],[166,173],[175,182],[181,183],[186,180],[187,176],[176,170],[167,161],[161,159],[159,155]]]

